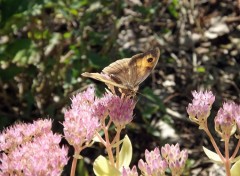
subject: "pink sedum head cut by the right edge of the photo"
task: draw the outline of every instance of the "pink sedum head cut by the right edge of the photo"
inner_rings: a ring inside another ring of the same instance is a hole
[[[215,117],[215,130],[224,140],[236,131],[235,116],[237,105],[234,102],[224,103]]]

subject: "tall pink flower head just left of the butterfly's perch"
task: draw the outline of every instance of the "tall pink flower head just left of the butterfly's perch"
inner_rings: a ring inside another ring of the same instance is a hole
[[[75,150],[83,144],[89,143],[100,127],[99,118],[94,112],[94,88],[89,87],[86,91],[72,98],[71,108],[64,114],[63,131],[66,140]]]

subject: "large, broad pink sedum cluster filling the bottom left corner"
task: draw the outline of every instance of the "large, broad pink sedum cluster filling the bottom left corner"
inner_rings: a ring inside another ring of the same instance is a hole
[[[61,135],[51,131],[51,120],[17,124],[0,135],[0,175],[61,175],[68,149]]]

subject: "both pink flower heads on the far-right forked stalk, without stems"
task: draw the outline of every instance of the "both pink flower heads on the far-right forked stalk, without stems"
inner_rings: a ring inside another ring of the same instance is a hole
[[[187,107],[189,118],[204,129],[215,96],[211,91],[194,91],[192,94],[194,99]],[[215,130],[222,139],[229,138],[237,128],[240,130],[240,105],[234,102],[223,103],[223,107],[218,110],[214,121]]]

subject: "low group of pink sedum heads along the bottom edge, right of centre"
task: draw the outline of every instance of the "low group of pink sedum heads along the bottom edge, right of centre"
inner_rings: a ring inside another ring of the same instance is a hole
[[[162,154],[162,155],[161,155]],[[187,150],[180,151],[179,145],[166,144],[161,148],[155,148],[153,151],[145,151],[144,162],[142,159],[138,162],[138,168],[142,175],[146,176],[164,176],[169,168],[172,175],[180,175],[183,173],[184,166],[188,158]],[[136,166],[132,169],[123,169],[122,176],[138,176]]]

